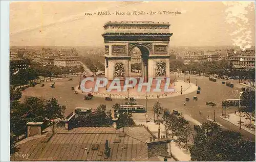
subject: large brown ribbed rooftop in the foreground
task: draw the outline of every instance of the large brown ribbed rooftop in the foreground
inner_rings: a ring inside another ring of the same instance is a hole
[[[45,131],[51,131],[51,128]],[[145,141],[152,137],[144,127],[125,127],[124,137],[120,136],[123,128],[116,130],[112,127],[78,127],[72,130],[58,127],[54,128],[54,132],[48,143],[41,142],[45,137],[43,135],[41,138],[19,143],[18,152],[28,154],[29,157],[15,157],[14,160],[147,161],[148,149]],[[111,155],[107,159],[103,153],[106,140],[111,148]],[[98,148],[93,150],[92,146],[95,144]],[[85,153],[85,148],[88,154]]]

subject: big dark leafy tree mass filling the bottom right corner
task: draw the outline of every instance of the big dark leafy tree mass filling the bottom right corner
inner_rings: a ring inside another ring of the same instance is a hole
[[[193,161],[251,161],[255,158],[255,143],[243,140],[239,132],[223,129],[214,122],[194,129],[196,136],[190,148]]]

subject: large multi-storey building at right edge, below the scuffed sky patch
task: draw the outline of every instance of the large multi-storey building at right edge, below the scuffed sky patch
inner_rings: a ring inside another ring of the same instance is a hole
[[[255,50],[228,51],[228,64],[236,69],[255,69]]]

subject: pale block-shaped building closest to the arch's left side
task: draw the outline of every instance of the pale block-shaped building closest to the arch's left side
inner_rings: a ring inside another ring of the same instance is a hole
[[[54,59],[54,65],[63,67],[79,67],[81,66],[81,59],[76,56],[58,57]]]

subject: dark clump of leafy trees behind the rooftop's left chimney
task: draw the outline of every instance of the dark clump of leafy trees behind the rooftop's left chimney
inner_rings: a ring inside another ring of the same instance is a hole
[[[16,98],[16,97],[11,97]],[[55,98],[49,100],[38,97],[26,97],[24,102],[10,102],[10,130],[16,137],[26,133],[26,123],[44,122],[46,125],[56,118],[64,118],[65,105],[60,105]]]

